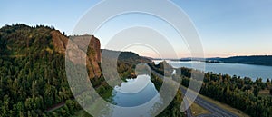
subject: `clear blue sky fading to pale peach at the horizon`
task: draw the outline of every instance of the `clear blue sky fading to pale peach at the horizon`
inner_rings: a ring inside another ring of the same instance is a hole
[[[73,28],[83,15],[99,2],[99,0],[76,2],[72,0],[2,0],[0,3],[0,26],[16,23],[44,24],[53,25],[65,34],[74,34]],[[172,2],[187,14],[195,25],[205,57],[272,54],[271,0],[172,0]],[[161,9],[164,10],[163,6]],[[173,17],[175,16],[173,15]],[[179,57],[190,57],[186,41],[182,41],[179,34],[169,24],[151,15],[116,16],[103,24],[94,35],[101,40],[102,48],[107,48],[107,43],[111,41],[114,34],[131,26],[152,27],[168,39],[176,50],[175,54],[178,54]],[[88,34],[88,32],[81,33]],[[158,42],[158,40],[154,39],[154,42]],[[161,49],[167,49],[167,47],[161,47]],[[147,46],[136,45],[127,47],[127,50],[144,56],[160,56],[158,54],[160,50],[157,50],[156,53]],[[172,54],[167,55],[169,58],[173,57]]]

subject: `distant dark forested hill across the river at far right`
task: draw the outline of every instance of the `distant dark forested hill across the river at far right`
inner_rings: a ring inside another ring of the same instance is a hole
[[[248,63],[272,66],[272,55],[234,56],[229,58],[220,58],[218,61],[223,63]]]

